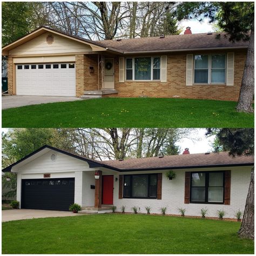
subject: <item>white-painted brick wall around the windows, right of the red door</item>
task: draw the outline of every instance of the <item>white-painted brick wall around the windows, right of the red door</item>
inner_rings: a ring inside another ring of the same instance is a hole
[[[194,170],[189,171],[210,171]],[[212,169],[212,170],[228,170],[228,169]],[[251,167],[232,167],[231,170],[231,203],[230,205],[224,204],[184,204],[185,192],[185,171],[176,170],[177,176],[173,180],[165,177],[163,172],[162,183],[162,199],[118,199],[118,182],[114,182],[114,205],[117,206],[117,211],[121,211],[122,205],[125,205],[126,212],[132,212],[131,207],[140,207],[140,212],[146,213],[145,206],[151,206],[151,213],[160,213],[160,207],[167,207],[167,214],[179,214],[178,208],[186,208],[186,215],[200,216],[201,208],[207,208],[207,216],[217,217],[217,210],[224,210],[226,218],[234,218],[234,212],[239,208],[244,211],[248,187],[250,184]],[[188,170],[187,170],[188,171]],[[160,172],[160,171],[158,171]],[[134,172],[133,172],[134,173]],[[143,172],[136,172],[143,173]],[[145,173],[145,172],[144,172]],[[151,172],[151,173],[157,173]],[[122,173],[130,174],[130,173]]]

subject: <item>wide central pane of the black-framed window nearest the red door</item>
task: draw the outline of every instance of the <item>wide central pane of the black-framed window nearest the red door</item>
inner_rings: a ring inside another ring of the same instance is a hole
[[[132,197],[147,197],[147,175],[132,176]]]

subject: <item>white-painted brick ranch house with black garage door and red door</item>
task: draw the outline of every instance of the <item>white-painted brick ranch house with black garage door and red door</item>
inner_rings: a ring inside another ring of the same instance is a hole
[[[111,212],[111,206],[151,207],[151,213],[216,217],[224,210],[234,218],[244,210],[254,157],[228,156],[228,153],[184,154],[127,160],[96,161],[77,154],[43,146],[3,172],[17,173],[17,200],[21,208],[68,211],[78,203],[83,211]],[[165,173],[172,170],[176,178]],[[95,176],[98,174],[97,176]],[[98,179],[96,179],[98,178]]]

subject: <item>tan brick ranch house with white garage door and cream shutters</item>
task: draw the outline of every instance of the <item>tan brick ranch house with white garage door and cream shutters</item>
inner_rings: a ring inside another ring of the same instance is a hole
[[[238,100],[247,42],[222,33],[88,41],[39,28],[2,48],[10,95]]]

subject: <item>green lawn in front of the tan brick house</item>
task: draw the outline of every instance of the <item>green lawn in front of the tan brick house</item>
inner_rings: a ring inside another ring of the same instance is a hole
[[[2,111],[3,127],[253,127],[236,102],[169,98],[102,98]]]

